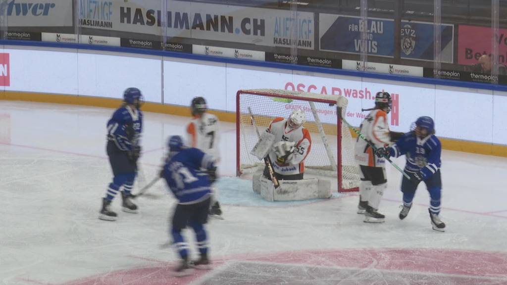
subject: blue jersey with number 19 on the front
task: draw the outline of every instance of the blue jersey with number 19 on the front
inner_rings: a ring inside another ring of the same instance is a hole
[[[434,134],[420,139],[413,131],[400,137],[389,150],[389,155],[393,157],[405,155],[405,170],[420,172],[424,180],[440,169],[441,153],[442,145]]]

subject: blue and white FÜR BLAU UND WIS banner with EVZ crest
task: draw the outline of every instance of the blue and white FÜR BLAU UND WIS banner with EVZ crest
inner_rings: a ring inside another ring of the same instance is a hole
[[[366,30],[367,39],[361,40]],[[433,24],[402,21],[401,57],[433,60]],[[453,61],[454,26],[442,25],[442,61]],[[367,52],[370,55],[394,55],[394,21],[392,19],[319,14],[320,50],[343,53]]]

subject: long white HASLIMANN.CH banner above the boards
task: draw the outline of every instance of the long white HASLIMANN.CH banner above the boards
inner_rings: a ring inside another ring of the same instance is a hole
[[[88,0],[80,1],[89,4]],[[298,12],[293,19],[292,12],[286,10],[183,1],[167,1],[167,11],[161,11],[160,1],[155,0],[96,0],[94,3],[83,9],[82,27],[149,34],[165,32],[167,37],[314,49],[315,20],[309,12]],[[90,9],[98,10],[95,13]]]

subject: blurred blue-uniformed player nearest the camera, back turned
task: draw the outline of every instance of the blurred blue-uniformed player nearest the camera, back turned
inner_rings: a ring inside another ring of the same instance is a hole
[[[211,184],[216,179],[215,158],[196,148],[187,148],[182,137],[169,137],[169,156],[160,173],[167,186],[178,200],[172,216],[172,241],[176,246],[181,263],[175,275],[187,275],[191,266],[209,268],[207,233],[204,224],[208,221],[211,202]],[[206,171],[201,171],[206,169]],[[189,264],[188,248],[182,230],[190,226],[196,235],[200,259]]]

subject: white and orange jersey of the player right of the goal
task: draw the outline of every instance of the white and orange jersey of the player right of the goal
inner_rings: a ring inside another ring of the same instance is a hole
[[[373,142],[377,148],[390,144],[387,113],[379,109],[371,111],[361,123],[361,134]],[[377,157],[372,147],[364,139],[357,137],[354,148],[355,160],[359,165],[385,167],[385,158]]]

